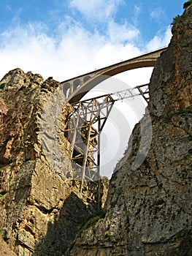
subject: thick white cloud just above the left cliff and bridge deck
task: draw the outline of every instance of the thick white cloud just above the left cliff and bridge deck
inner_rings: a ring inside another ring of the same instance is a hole
[[[0,58],[4,63],[0,76],[20,67],[25,72],[31,70],[44,78],[53,76],[62,81],[137,56],[139,48],[124,42],[136,36],[137,29],[111,24],[108,35],[91,33],[72,18],[60,24],[58,37],[48,36],[42,23],[9,29],[0,37]]]

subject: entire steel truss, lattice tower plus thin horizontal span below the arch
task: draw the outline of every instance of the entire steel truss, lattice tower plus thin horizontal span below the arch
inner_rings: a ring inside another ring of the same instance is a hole
[[[136,93],[136,90],[139,93]],[[100,135],[115,101],[129,97],[148,101],[147,85],[118,91],[72,104],[73,110],[65,129],[65,137],[72,145],[73,178],[81,181],[80,192],[101,205],[100,192]],[[113,99],[113,97],[115,99]]]

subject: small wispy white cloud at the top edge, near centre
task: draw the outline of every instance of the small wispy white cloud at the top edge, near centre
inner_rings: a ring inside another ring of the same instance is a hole
[[[123,0],[72,0],[70,7],[74,8],[85,18],[103,20],[115,15]]]

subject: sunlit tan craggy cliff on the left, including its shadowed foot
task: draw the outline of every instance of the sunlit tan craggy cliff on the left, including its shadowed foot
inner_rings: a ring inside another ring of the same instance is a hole
[[[17,255],[63,255],[96,214],[93,198],[70,178],[64,120],[71,106],[62,108],[61,92],[53,78],[21,69],[0,82],[0,229]]]

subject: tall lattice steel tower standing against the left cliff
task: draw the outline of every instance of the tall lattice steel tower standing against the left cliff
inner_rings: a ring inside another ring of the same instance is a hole
[[[82,189],[85,189],[88,198],[96,200],[98,211],[101,206],[101,130],[114,102],[114,99],[106,94],[74,103],[74,110],[71,113],[72,123],[65,130],[65,132],[72,132],[72,161],[81,168],[80,192],[82,193]],[[79,163],[81,160],[82,164]],[[88,182],[93,183],[91,189]]]

